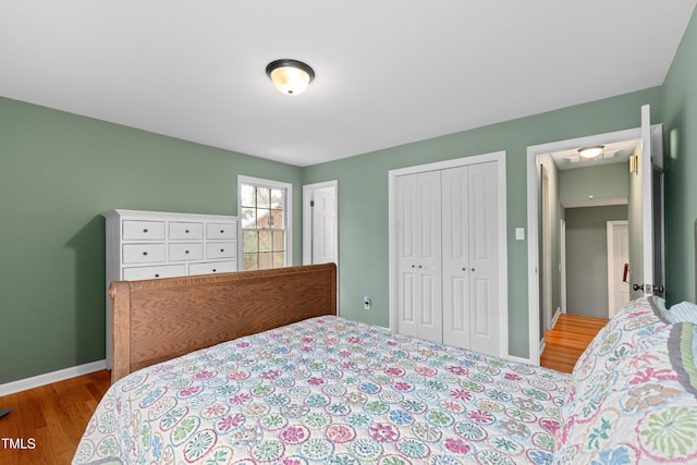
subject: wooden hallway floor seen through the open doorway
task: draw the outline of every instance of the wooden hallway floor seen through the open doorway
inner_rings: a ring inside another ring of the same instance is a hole
[[[540,365],[572,372],[576,360],[607,323],[607,318],[561,314],[554,328],[545,331],[545,350]]]

